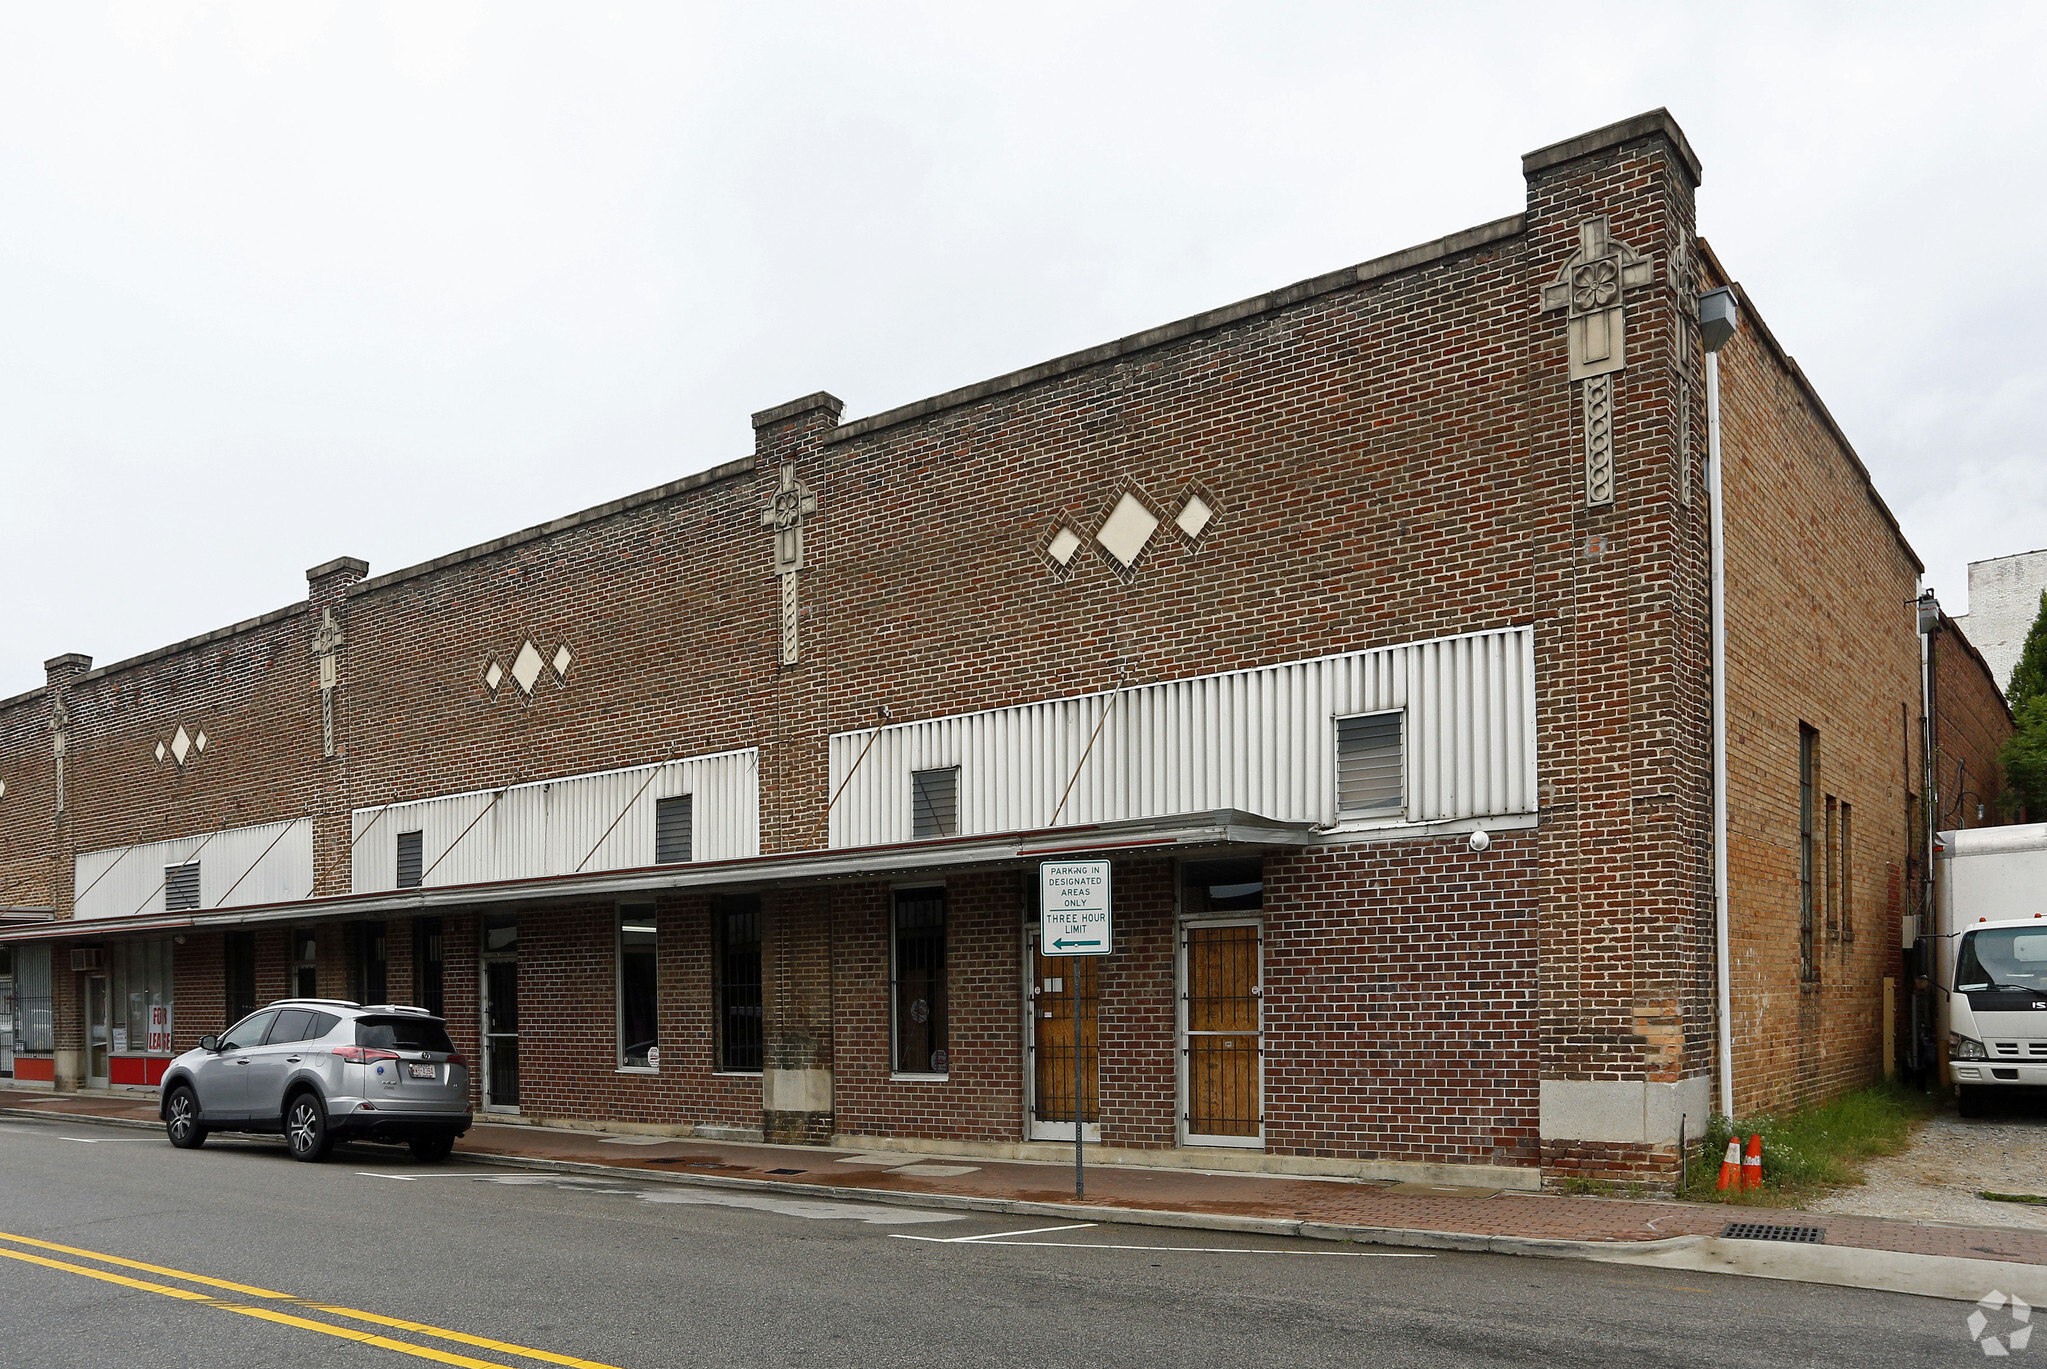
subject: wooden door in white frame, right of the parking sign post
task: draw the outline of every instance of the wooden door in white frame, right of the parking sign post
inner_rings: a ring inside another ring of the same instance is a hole
[[[1187,927],[1187,1134],[1257,1140],[1263,1128],[1259,929]]]

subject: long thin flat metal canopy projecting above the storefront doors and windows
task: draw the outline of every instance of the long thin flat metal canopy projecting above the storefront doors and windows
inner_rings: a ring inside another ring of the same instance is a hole
[[[121,919],[66,919],[25,929],[0,929],[0,941],[49,941],[98,937],[127,931],[178,931],[246,927],[252,923],[311,923],[342,917],[405,917],[485,904],[540,902],[559,898],[618,898],[661,894],[682,888],[780,888],[833,880],[872,880],[905,874],[999,870],[1060,855],[1167,853],[1200,849],[1261,851],[1302,847],[1324,839],[1310,823],[1279,823],[1238,808],[1187,812],[1169,819],[1134,819],[1093,827],[1054,827],[995,837],[940,837],[843,851],[792,851],[745,859],[686,866],[647,866],[598,874],[499,880],[491,884],[448,884],[381,894],[334,894],[293,902],[250,904],[209,913],[158,913]]]

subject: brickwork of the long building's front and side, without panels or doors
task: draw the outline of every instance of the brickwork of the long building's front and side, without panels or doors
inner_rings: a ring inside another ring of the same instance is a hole
[[[1611,381],[1617,497],[1588,507],[1566,325],[1537,303],[1597,215],[1650,274],[1627,291],[1627,368]],[[1711,1068],[1697,260],[1693,174],[1642,127],[1531,164],[1525,215],[1400,262],[915,411],[841,426],[829,397],[784,405],[759,415],[753,460],[383,579],[334,569],[305,606],[82,677],[78,816],[51,829],[10,790],[0,880],[33,888],[55,868],[63,904],[78,849],[313,812],[332,894],[350,808],[749,745],[764,849],[817,847],[827,737],[878,706],[909,720],[1533,624],[1539,831],[1502,833],[1482,857],[1417,841],[1275,859],[1267,911],[1275,1150],[1533,1162],[1539,1076]],[[1754,1099],[1803,1097],[1867,1074],[1871,984],[1896,935],[1842,935],[1822,986],[1787,990],[1785,724],[1793,749],[1799,718],[1826,735],[1828,792],[1857,804],[1857,907],[1875,909],[1902,849],[1885,747],[1910,700],[1912,565],[1781,354],[1748,327],[1726,360],[1742,1078]],[[790,667],[759,522],[784,460],[819,497]],[[1197,546],[1171,526],[1191,487],[1216,510]],[[1163,518],[1128,573],[1085,542],[1126,491]],[[1060,524],[1083,536],[1064,571],[1042,555]],[[309,653],[323,608],[346,634],[334,757]],[[567,647],[567,679],[493,694],[485,667],[524,641]],[[0,708],[10,784],[47,769],[31,716],[45,704]],[[180,722],[207,728],[207,753],[156,763]],[[1795,778],[1793,753],[1793,802]],[[770,1064],[829,1066],[837,1095],[835,1117],[770,1130],[1019,1136],[1013,876],[950,884],[946,1085],[888,1078],[882,890],[770,892]],[[1126,950],[1103,978],[1114,1144],[1173,1140],[1171,909],[1167,866],[1130,864]],[[524,1111],[761,1119],[757,1080],[708,1072],[704,902],[663,900],[659,917],[673,1078],[667,1060],[653,1078],[616,1072],[610,904],[522,911]],[[354,982],[352,935],[319,933],[323,995]],[[475,917],[446,919],[446,1009],[471,1054],[475,935]],[[1474,937],[1500,964],[1486,990],[1443,997],[1417,978],[1423,947]],[[403,923],[391,943],[397,995]],[[264,995],[282,990],[280,954],[262,943]]]

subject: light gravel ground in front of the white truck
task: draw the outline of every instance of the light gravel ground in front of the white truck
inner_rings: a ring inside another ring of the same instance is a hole
[[[2047,1203],[1992,1203],[1992,1193],[2047,1197],[2047,1109],[1963,1121],[1943,1113],[1900,1154],[1871,1160],[1867,1183],[1810,1205],[1867,1218],[2047,1228]]]

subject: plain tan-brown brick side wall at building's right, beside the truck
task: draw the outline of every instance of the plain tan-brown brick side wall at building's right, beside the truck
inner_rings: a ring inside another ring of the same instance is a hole
[[[1889,880],[1918,786],[1904,733],[1920,712],[1920,567],[1752,305],[1719,352],[1719,387],[1734,1085],[1750,1111],[1881,1070],[1881,980],[1900,943]],[[1799,724],[1820,733],[1812,982],[1799,978]],[[1853,939],[1824,911],[1828,796],[1855,808]]]

